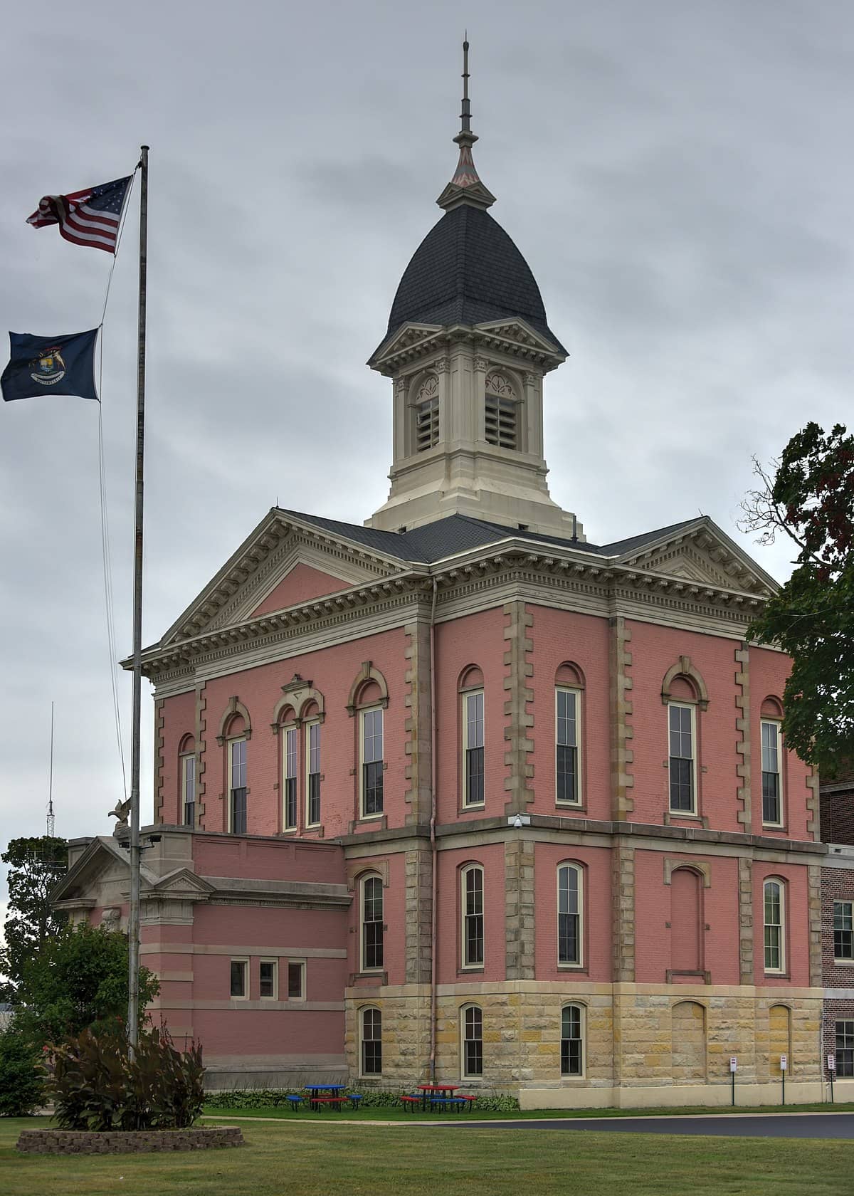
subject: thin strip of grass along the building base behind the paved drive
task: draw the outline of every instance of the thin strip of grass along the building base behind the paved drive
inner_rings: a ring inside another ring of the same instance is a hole
[[[380,1121],[380,1122],[447,1122],[447,1121],[549,1121],[561,1117],[673,1117],[678,1116],[710,1116],[712,1113],[850,1113],[854,1112],[854,1104],[811,1104],[811,1105],[757,1105],[749,1109],[745,1105],[715,1105],[706,1107],[691,1105],[687,1109],[527,1109],[520,1112],[518,1109],[511,1112],[496,1113],[487,1110],[463,1110],[460,1113],[449,1112],[410,1112],[399,1105],[372,1105],[354,1112],[349,1107],[341,1113],[330,1111],[312,1112],[307,1106],[291,1110],[285,1105],[267,1105],[260,1109],[212,1109],[205,1107],[203,1116],[216,1118],[218,1121],[238,1121],[240,1117],[272,1117],[286,1121],[317,1121],[318,1117],[328,1117],[330,1121]]]

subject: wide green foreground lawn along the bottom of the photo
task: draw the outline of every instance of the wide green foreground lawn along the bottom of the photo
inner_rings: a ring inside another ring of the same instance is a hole
[[[240,1149],[18,1155],[0,1119],[0,1191],[14,1196],[850,1196],[852,1147],[836,1140],[676,1137],[550,1130],[245,1122]],[[439,1135],[439,1136],[437,1136]]]

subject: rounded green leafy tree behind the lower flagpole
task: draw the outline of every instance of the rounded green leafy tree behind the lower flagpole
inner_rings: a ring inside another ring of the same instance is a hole
[[[159,991],[140,968],[140,1020]],[[14,1025],[41,1046],[81,1030],[115,1026],[128,1008],[128,940],[89,922],[63,926],[24,962]]]

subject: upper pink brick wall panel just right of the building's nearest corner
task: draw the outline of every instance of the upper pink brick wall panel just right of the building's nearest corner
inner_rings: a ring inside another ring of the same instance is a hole
[[[592,615],[530,605],[533,626],[533,791],[531,813],[555,814],[572,810],[555,805],[555,676],[565,663],[578,666],[581,694],[581,811],[588,818],[609,819],[610,742],[608,620]]]

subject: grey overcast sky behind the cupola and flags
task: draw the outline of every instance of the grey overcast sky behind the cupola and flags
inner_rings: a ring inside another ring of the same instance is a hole
[[[146,643],[276,501],[353,523],[384,501],[391,390],[364,362],[441,215],[463,23],[492,214],[571,354],[547,380],[553,498],[598,543],[702,511],[787,575],[787,547],[757,548],[736,520],[751,454],[807,419],[850,419],[849,0],[43,0],[36,22],[18,2],[0,77],[0,330],[98,323],[109,256],[24,221],[151,145]],[[120,654],[135,213],[104,335]],[[122,774],[97,408],[31,399],[0,421],[0,838],[44,828],[51,700],[57,832],[108,832]],[[120,696],[127,750],[126,675]],[[145,683],[144,822],[151,716]]]

